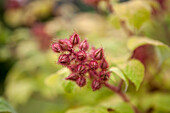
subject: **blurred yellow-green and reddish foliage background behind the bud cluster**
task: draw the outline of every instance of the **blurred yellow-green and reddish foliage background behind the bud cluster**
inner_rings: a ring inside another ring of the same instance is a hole
[[[127,94],[143,113],[170,112],[170,51],[161,59],[152,44],[127,46],[132,37],[170,45],[170,0],[0,0],[0,96],[17,113],[65,113],[121,101],[106,88],[93,92],[64,80],[68,73],[50,46],[74,32],[103,47],[110,66],[140,60],[143,83],[137,92],[131,84]],[[60,77],[47,81],[53,74]]]

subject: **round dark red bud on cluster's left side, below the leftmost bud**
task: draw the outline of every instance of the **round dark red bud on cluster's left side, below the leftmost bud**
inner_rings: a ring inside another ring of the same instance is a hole
[[[69,65],[70,64],[69,55],[67,54],[60,55],[58,58],[58,62],[62,65]]]

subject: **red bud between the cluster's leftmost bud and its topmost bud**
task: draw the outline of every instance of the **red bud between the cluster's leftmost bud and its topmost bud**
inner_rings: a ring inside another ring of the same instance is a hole
[[[63,51],[69,51],[72,48],[72,44],[68,39],[61,39],[58,41],[61,50]]]

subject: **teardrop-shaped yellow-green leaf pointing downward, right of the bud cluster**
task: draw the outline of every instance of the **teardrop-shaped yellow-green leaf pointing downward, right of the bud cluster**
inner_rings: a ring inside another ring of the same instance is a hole
[[[124,73],[135,84],[136,90],[138,90],[144,77],[143,64],[135,59],[130,60],[124,69]]]

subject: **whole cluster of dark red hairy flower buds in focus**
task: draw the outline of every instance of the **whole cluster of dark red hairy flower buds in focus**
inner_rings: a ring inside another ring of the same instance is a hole
[[[89,50],[87,40],[81,41],[77,33],[71,35],[69,39],[54,42],[51,47],[55,53],[60,53],[58,63],[71,71],[66,80],[74,81],[83,87],[86,85],[86,79],[90,79],[91,87],[95,91],[109,79],[109,65],[104,57],[103,48],[92,47]]]

